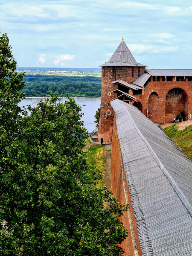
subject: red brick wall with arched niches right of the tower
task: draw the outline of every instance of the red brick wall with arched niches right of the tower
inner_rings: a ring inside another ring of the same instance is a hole
[[[177,97],[171,97],[170,101],[168,101],[167,98],[166,108],[166,96],[173,88],[180,88],[186,93],[184,112],[186,114],[186,120],[188,120],[189,113],[192,113],[192,82],[188,82],[188,78],[186,78],[186,81],[175,82],[162,81],[162,77],[160,77],[160,81],[148,82],[148,84],[145,86],[143,95],[134,95],[136,100],[140,101],[143,105],[143,113],[144,109],[147,109],[147,116],[154,123],[165,124],[165,122],[173,122],[173,117],[177,116],[176,113],[178,113],[178,111],[182,112],[182,98],[179,99]],[[158,100],[155,100],[153,96],[150,97],[151,93],[153,92],[157,93],[159,97]],[[134,102],[131,102],[131,104],[133,105]],[[177,108],[177,105],[179,105],[180,108]]]

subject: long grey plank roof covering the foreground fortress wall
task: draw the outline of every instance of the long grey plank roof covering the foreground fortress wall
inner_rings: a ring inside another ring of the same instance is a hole
[[[192,255],[192,160],[134,106],[111,102],[143,256]]]

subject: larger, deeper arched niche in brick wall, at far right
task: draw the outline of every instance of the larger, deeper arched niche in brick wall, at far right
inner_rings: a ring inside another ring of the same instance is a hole
[[[188,96],[183,89],[173,88],[166,96],[166,122],[173,122],[173,118],[180,113],[181,119],[187,119]]]

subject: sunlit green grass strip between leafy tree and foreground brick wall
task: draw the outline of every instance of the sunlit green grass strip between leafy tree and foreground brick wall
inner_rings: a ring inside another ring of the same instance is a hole
[[[89,152],[90,151],[90,152]],[[96,169],[105,172],[105,151],[104,146],[97,145],[93,148],[89,148],[87,150],[88,159],[86,159],[86,163],[88,166],[93,166]],[[99,188],[104,186],[104,178],[102,180],[98,180],[99,184],[97,185]]]

